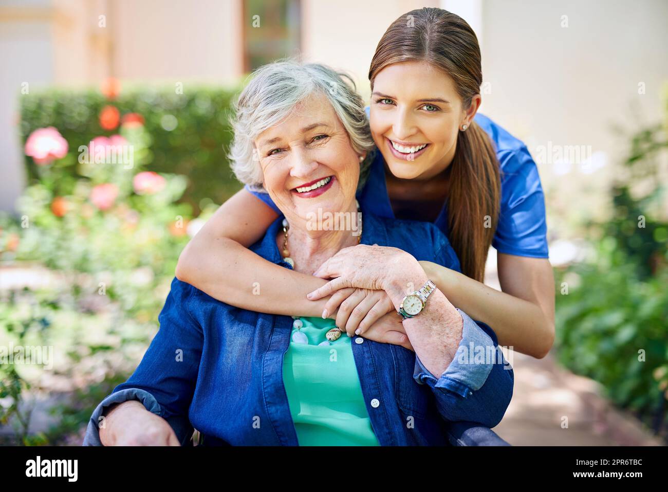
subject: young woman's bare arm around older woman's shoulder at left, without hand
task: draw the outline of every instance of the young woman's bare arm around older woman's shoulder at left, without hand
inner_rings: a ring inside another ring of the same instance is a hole
[[[176,277],[245,310],[321,316],[327,299],[309,301],[306,294],[325,280],[281,267],[247,249],[265,235],[277,217],[252,193],[238,191],[186,245],[176,265]]]

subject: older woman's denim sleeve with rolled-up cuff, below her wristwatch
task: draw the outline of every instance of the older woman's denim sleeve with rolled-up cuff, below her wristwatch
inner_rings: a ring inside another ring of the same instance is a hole
[[[440,377],[415,354],[413,379],[428,384],[446,420],[469,420],[493,427],[501,421],[512,398],[514,374],[495,340],[470,316],[464,320],[457,353]]]

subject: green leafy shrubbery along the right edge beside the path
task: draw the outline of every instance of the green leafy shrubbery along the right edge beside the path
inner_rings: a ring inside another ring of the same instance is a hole
[[[589,224],[591,255],[558,272],[560,362],[601,382],[619,406],[659,431],[668,400],[668,217],[661,126],[631,138],[607,223]]]

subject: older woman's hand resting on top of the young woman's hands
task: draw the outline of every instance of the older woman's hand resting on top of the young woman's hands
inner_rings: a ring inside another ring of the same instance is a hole
[[[377,245],[351,246],[341,249],[313,273],[316,277],[333,280],[307,297],[317,301],[347,287],[384,290],[388,294],[396,291],[408,293],[421,287],[408,283],[416,273],[424,275],[424,269],[415,257],[401,249]]]

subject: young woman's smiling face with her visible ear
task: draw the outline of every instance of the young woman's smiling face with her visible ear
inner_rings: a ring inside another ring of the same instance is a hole
[[[378,72],[371,94],[371,134],[392,174],[428,179],[452,162],[457,136],[480,96],[462,107],[450,76],[425,61],[402,61]]]

